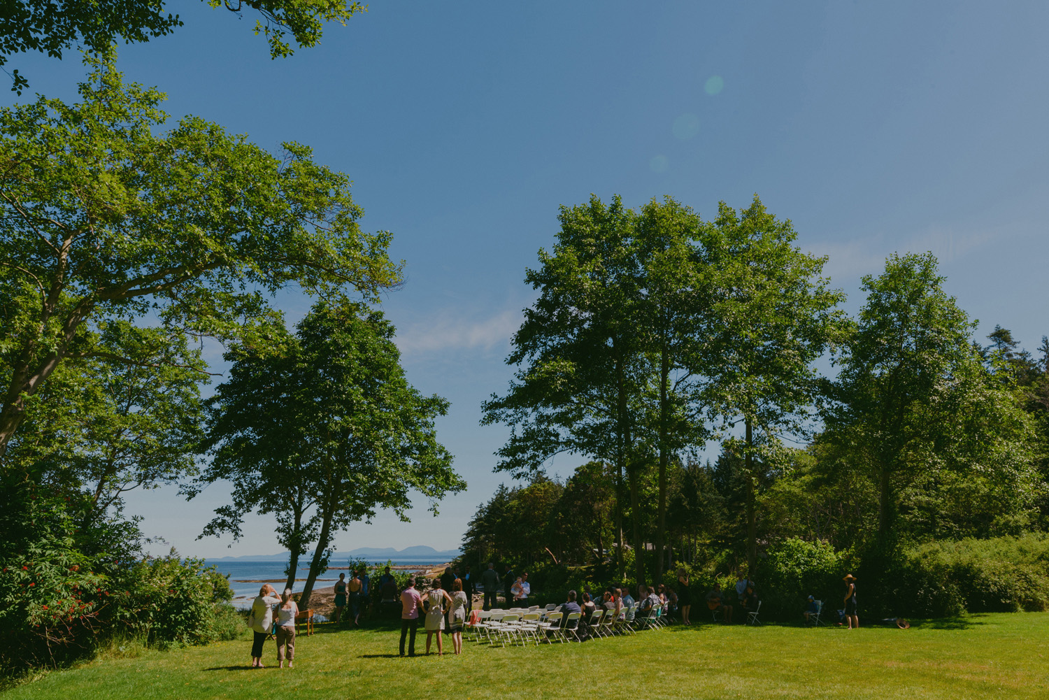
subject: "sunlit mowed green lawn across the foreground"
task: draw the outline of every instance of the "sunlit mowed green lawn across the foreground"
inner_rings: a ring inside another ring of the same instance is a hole
[[[327,627],[327,625],[324,625]],[[582,644],[490,648],[400,658],[392,627],[302,636],[296,665],[250,670],[250,635],[206,648],[101,658],[5,697],[1049,698],[1049,614],[973,615],[911,630],[675,625]],[[425,634],[416,640],[421,651]],[[446,651],[450,652],[449,643]]]

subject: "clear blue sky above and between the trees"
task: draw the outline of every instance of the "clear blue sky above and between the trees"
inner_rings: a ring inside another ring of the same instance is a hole
[[[378,0],[277,61],[250,14],[177,10],[186,26],[122,47],[122,68],[165,90],[175,118],[271,150],[307,144],[355,181],[363,227],[392,231],[406,261],[384,307],[409,379],[452,402],[438,433],[469,490],[436,518],[357,525],[342,551],[456,547],[507,481],[492,473],[506,430],[479,427],[479,404],[511,376],[524,268],[552,245],[558,207],[592,192],[630,206],[669,194],[706,216],[757,193],[830,256],[851,312],[886,255],[930,250],[981,336],[1000,323],[1033,349],[1049,334],[1049,4]],[[12,65],[69,99],[77,59]],[[291,320],[309,305],[277,303]],[[184,554],[280,549],[263,518],[232,551],[195,540],[223,495],[187,504],[164,488],[129,510]]]

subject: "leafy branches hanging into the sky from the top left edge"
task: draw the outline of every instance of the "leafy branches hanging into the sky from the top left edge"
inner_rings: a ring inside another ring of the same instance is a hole
[[[233,13],[258,13],[255,34],[265,34],[273,58],[291,56],[288,33],[299,46],[316,46],[325,22],[345,24],[367,6],[346,0],[201,0],[211,7],[224,6]],[[62,51],[83,46],[104,54],[123,40],[149,41],[170,34],[183,22],[178,15],[165,12],[163,0],[4,0],[0,13],[0,67],[14,54],[41,51],[62,58]],[[21,94],[28,86],[16,68],[12,89]]]

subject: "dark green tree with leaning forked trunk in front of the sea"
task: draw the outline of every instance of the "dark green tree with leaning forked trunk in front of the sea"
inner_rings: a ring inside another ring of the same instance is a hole
[[[321,301],[298,323],[294,341],[276,352],[286,364],[273,374],[258,372],[250,356],[233,358],[231,382],[218,387],[214,401],[218,420],[210,444],[219,459],[204,481],[242,482],[255,455],[264,461],[256,471],[258,510],[293,508],[262,494],[292,481],[293,488],[313,493],[306,527],[299,533],[316,528],[301,600],[306,607],[318,574],[327,567],[336,532],[371,518],[379,508],[405,517],[412,491],[428,499],[435,512],[445,493],[466,484],[436,440],[434,419],[445,415],[448,402],[421,396],[408,384],[393,326],[382,313],[359,303]],[[253,390],[254,402],[245,402]],[[237,415],[244,410],[251,415]],[[260,447],[252,448],[251,441]],[[272,454],[260,454],[265,451]],[[221,519],[229,512],[218,514]],[[298,544],[304,551],[305,542]]]

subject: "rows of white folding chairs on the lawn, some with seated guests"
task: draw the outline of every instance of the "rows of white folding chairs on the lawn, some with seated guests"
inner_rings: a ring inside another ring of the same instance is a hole
[[[581,641],[579,637],[579,621],[581,613],[570,613],[568,619],[562,619],[563,613],[554,610],[556,606],[547,606],[540,610],[538,606],[528,609],[476,611],[477,620],[467,623],[468,638],[491,645],[506,646],[508,643],[522,645],[534,641],[536,645],[545,641]],[[614,610],[598,610],[591,613],[590,634],[595,638],[609,637],[617,634],[637,634],[639,630],[661,628],[666,624],[665,611],[657,606],[648,615],[638,616],[638,604],[635,603],[620,611],[616,616]],[[564,622],[564,624],[562,624]]]

